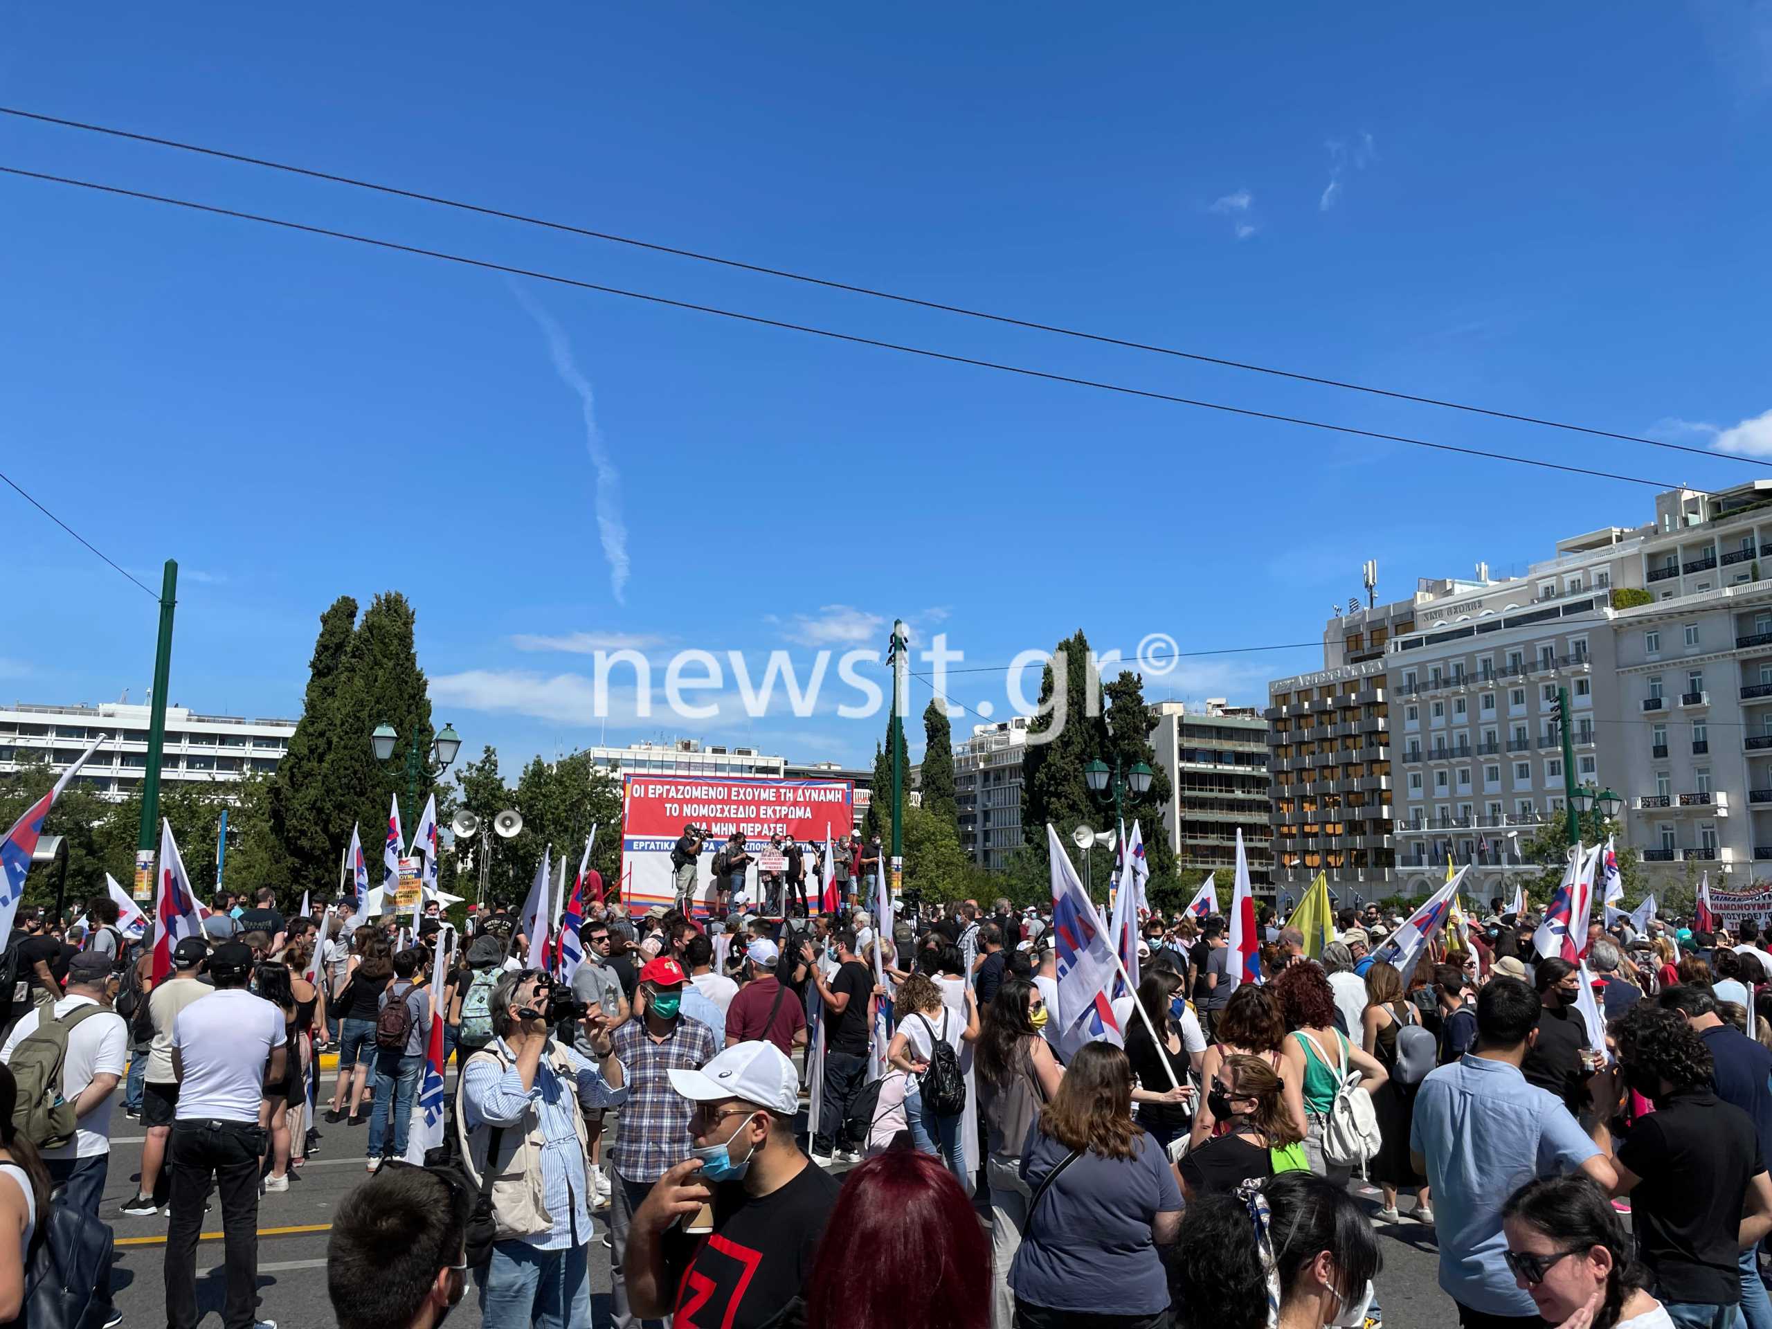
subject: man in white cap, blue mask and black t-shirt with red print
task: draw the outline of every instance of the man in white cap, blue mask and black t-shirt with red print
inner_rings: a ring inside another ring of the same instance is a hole
[[[629,1310],[760,1329],[801,1295],[840,1182],[794,1139],[799,1076],[774,1044],[737,1044],[670,1083],[695,1102],[695,1146],[634,1212]]]

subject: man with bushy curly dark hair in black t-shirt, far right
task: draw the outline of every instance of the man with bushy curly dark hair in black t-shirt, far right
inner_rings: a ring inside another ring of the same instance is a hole
[[[1614,1196],[1632,1196],[1637,1255],[1680,1324],[1728,1324],[1753,1251],[1772,1232],[1772,1178],[1753,1118],[1710,1088],[1705,1040],[1639,1001],[1614,1026],[1625,1083],[1655,1100],[1618,1148]],[[1758,1278],[1758,1269],[1753,1271]]]

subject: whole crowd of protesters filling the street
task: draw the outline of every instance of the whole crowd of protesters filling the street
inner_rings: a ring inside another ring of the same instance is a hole
[[[363,1129],[372,1173],[328,1256],[337,1324],[360,1329],[434,1325],[470,1290],[491,1329],[587,1324],[597,1246],[620,1329],[1379,1325],[1373,1233],[1400,1224],[1434,1230],[1467,1329],[1772,1325],[1753,925],[1595,925],[1572,962],[1535,953],[1538,920],[1497,900],[1398,969],[1380,959],[1398,918],[1343,911],[1315,948],[1263,918],[1255,983],[1223,918],[1152,914],[1138,983],[1111,994],[1120,1037],[1079,1044],[1058,1028],[1049,914],[916,913],[594,904],[560,976],[526,968],[505,909],[344,929],[262,891],[220,900],[156,982],[151,934],[124,937],[112,902],[78,934],[21,909],[0,1324],[51,1205],[108,1221],[122,1097],[145,1143],[120,1216],[167,1219],[174,1329],[197,1324],[211,1193],[225,1329],[269,1324],[259,1207],[323,1123]],[[436,1021],[448,1132],[411,1166]],[[854,1295],[881,1278],[890,1299]],[[96,1281],[90,1324],[119,1324]]]

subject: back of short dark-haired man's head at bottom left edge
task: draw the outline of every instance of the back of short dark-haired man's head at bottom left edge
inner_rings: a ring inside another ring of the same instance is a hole
[[[468,1286],[468,1214],[441,1168],[395,1162],[347,1194],[326,1239],[338,1329],[438,1329]]]

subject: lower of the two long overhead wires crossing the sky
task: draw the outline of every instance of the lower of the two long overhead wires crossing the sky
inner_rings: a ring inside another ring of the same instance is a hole
[[[971,365],[973,369],[991,369],[999,374],[1017,374],[1021,377],[1042,379],[1045,383],[1067,383],[1076,388],[1095,388],[1099,392],[1113,392],[1123,397],[1138,397],[1154,402],[1171,402],[1175,406],[1193,406],[1203,411],[1219,411],[1224,415],[1237,415],[1247,420],[1269,420],[1274,424],[1301,425],[1304,429],[1322,429],[1334,434],[1348,434],[1352,438],[1370,438],[1380,443],[1405,443],[1416,448],[1430,448],[1434,452],[1458,454],[1465,457],[1487,457],[1488,461],[1506,461],[1517,466],[1536,466],[1547,471],[1563,471],[1566,475],[1588,475],[1598,480],[1621,480],[1625,484],[1650,486],[1652,489],[1680,489],[1682,484],[1675,480],[1648,480],[1641,475],[1621,475],[1618,471],[1602,471],[1591,466],[1572,466],[1559,461],[1545,461],[1543,457],[1520,457],[1508,452],[1494,452],[1488,448],[1467,448],[1455,443],[1435,443],[1425,438],[1411,438],[1407,434],[1386,434],[1377,429],[1356,429],[1354,425],[1338,425],[1325,420],[1310,420],[1295,415],[1279,415],[1276,411],[1256,411],[1247,406],[1230,406],[1226,402],[1209,402],[1196,397],[1178,397],[1168,392],[1154,392],[1150,388],[1132,388],[1123,383],[1106,383],[1100,379],[1084,379],[1074,374],[1054,374],[1044,369],[1028,369],[1026,365],[1010,365],[999,360],[980,360],[976,356],[952,354],[948,351],[932,351],[921,346],[907,346],[904,342],[888,342],[877,337],[859,337],[856,333],[835,331],[831,328],[815,328],[806,323],[789,323],[785,319],[769,319],[760,314],[744,314],[741,310],[719,308],[716,305],[700,305],[688,299],[670,299],[666,296],[649,294],[645,291],[627,291],[622,287],[604,285],[601,282],[583,282],[574,276],[560,276],[556,273],[544,273],[533,268],[517,268],[514,264],[493,262],[489,259],[473,259],[462,253],[448,253],[445,250],[429,250],[418,245],[404,245],[392,239],[377,239],[374,236],[360,236],[349,230],[335,230],[331,227],[317,227],[307,222],[289,222],[285,218],[266,216],[262,213],[245,213],[234,207],[218,207],[214,204],[200,204],[190,198],[174,198],[161,193],[147,193],[144,190],[126,190],[119,184],[101,184],[96,181],[82,181],[69,175],[51,175],[41,170],[23,170],[21,167],[4,167],[0,165],[0,174],[18,175],[21,179],[46,181],[50,184],[67,184],[78,190],[92,190],[96,193],[110,193],[122,198],[138,198],[151,204],[165,204],[170,207],[184,207],[193,213],[209,213],[211,216],[227,216],[237,222],[257,222],[268,227],[282,227],[284,230],[299,230],[308,236],[326,236],[330,239],[346,239],[354,245],[369,245],[379,250],[392,250],[397,253],[413,253],[422,259],[439,259],[443,262],[461,264],[462,268],[478,268],[489,273],[505,273],[509,276],[528,276],[537,282],[553,282],[556,285],[574,287],[578,291],[597,291],[606,296],[620,296],[624,299],[640,299],[649,305],[663,305],[668,308],[689,310],[695,314],[712,314],[721,319],[732,319],[735,323],[750,323],[760,328],[780,328],[783,331],[799,331],[812,337],[824,337],[833,342],[847,342],[851,346],[870,346],[879,351],[897,351],[900,354],[921,356],[925,360],[941,360],[950,365]],[[1689,487],[1689,486],[1687,486]]]

